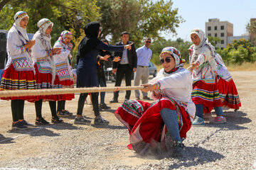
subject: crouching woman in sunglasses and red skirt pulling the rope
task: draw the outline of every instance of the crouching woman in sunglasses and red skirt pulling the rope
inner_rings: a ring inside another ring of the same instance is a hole
[[[157,76],[143,84],[142,91],[152,91],[154,103],[129,100],[117,108],[115,115],[130,132],[132,148],[144,154],[157,142],[165,144],[167,153],[182,156],[186,132],[191,128],[196,107],[191,99],[192,79],[183,68],[181,53],[175,47],[165,47],[160,54],[163,68]]]

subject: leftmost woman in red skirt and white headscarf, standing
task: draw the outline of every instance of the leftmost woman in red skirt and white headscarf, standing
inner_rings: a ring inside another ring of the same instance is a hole
[[[31,59],[31,47],[34,40],[29,40],[26,33],[28,14],[18,11],[14,16],[14,26],[8,32],[7,52],[8,61],[1,79],[1,90],[36,89],[35,69]],[[35,101],[36,96],[1,98],[11,100],[13,117],[12,128],[23,130],[31,125],[23,118],[24,101]]]

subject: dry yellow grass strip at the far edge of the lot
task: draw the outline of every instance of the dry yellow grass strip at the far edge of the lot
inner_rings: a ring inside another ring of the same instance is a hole
[[[184,68],[188,68],[189,64],[185,63]],[[228,67],[229,72],[235,72],[235,71],[256,71],[256,62],[255,63],[250,63],[250,62],[245,62],[242,65],[237,65],[237,64],[228,64],[226,65]],[[157,71],[162,68],[161,65],[156,65]]]

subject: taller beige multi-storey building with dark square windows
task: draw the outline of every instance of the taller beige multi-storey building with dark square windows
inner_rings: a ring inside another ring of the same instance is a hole
[[[228,37],[233,37],[233,23],[211,18],[206,22],[206,37],[218,37],[220,42],[216,44],[221,49],[227,47]]]

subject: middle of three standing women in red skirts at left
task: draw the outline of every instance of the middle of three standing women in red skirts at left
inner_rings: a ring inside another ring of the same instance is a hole
[[[53,30],[53,23],[43,18],[38,21],[39,30],[33,35],[36,40],[32,47],[32,57],[36,69],[36,85],[38,89],[58,89],[62,88],[60,79],[55,71],[53,55],[60,53],[60,48],[53,48],[50,45],[50,32]],[[63,123],[56,114],[56,101],[61,100],[60,95],[39,96],[40,100],[35,102],[36,107],[36,125],[47,125],[48,121],[42,117],[43,100],[49,101],[50,111],[52,114],[52,123]]]

